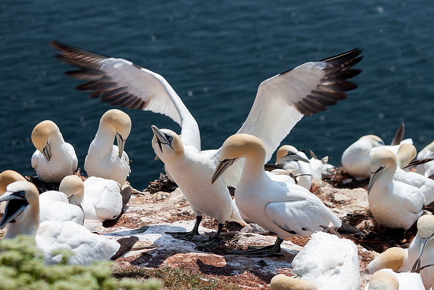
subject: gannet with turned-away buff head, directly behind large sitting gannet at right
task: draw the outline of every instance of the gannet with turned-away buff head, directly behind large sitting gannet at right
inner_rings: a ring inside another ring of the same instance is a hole
[[[402,144],[396,153],[397,169],[393,180],[413,185],[425,196],[425,205],[434,201],[434,180],[417,172],[405,171],[401,168],[407,166],[417,155],[416,147],[411,144]]]

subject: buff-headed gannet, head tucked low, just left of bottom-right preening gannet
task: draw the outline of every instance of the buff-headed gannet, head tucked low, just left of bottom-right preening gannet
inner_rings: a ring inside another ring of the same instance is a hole
[[[410,270],[408,267],[408,249],[398,247],[389,248],[370,261],[366,269],[370,274],[374,274],[381,269],[407,272]]]

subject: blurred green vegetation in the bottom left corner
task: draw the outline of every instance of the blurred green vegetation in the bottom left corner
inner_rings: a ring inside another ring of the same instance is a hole
[[[31,236],[18,236],[0,242],[0,289],[16,290],[158,290],[155,279],[140,283],[136,279],[113,277],[113,261],[94,262],[90,266],[68,265],[70,252],[59,265],[45,265],[43,253]]]

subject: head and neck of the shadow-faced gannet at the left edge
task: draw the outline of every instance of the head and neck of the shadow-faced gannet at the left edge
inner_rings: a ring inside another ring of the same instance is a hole
[[[0,202],[4,200],[9,200],[2,220],[2,224],[8,225],[5,238],[36,235],[39,227],[39,192],[36,186],[28,181],[11,183],[0,197]]]

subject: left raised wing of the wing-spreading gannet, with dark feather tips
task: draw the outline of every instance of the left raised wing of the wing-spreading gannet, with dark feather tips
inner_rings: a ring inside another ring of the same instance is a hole
[[[89,98],[99,98],[118,107],[150,110],[168,116],[183,130],[188,130],[189,133],[181,133],[183,144],[200,150],[196,120],[162,76],[131,61],[91,53],[56,40],[50,42],[50,47],[58,52],[58,59],[80,68],[65,73],[86,81],[76,88],[92,92]]]

